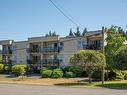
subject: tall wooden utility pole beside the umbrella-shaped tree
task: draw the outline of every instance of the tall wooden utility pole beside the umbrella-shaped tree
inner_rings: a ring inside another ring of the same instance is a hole
[[[103,55],[105,55],[105,47],[104,47],[104,32],[105,32],[105,29],[104,29],[104,26],[102,27],[102,53]],[[101,79],[102,79],[102,84],[104,84],[104,79],[105,79],[105,67],[104,65],[102,66],[102,75],[101,75]]]

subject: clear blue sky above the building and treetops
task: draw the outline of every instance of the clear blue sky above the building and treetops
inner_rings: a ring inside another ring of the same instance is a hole
[[[127,0],[53,0],[88,30],[101,26],[127,26]],[[79,24],[79,26],[80,26]],[[49,0],[0,0],[0,40],[27,40],[49,30],[65,36],[76,26]]]

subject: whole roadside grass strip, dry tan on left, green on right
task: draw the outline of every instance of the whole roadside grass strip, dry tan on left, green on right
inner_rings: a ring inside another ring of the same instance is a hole
[[[21,83],[21,84],[39,84],[39,85],[58,85],[58,86],[82,86],[82,87],[103,87],[110,89],[127,89],[127,80],[122,81],[106,81],[104,85],[101,82],[80,82],[74,78],[38,78],[38,77],[4,77],[0,76],[0,83]]]

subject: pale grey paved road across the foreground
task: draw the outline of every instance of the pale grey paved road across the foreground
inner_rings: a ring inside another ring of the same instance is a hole
[[[127,90],[0,84],[0,95],[127,95]]]

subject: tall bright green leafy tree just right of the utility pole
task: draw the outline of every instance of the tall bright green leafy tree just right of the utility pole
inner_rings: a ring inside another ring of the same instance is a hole
[[[105,56],[108,69],[112,69],[112,64],[114,62],[113,57],[115,56],[117,50],[124,46],[125,37],[123,34],[119,33],[118,27],[111,26],[107,29],[107,45],[105,46]]]

